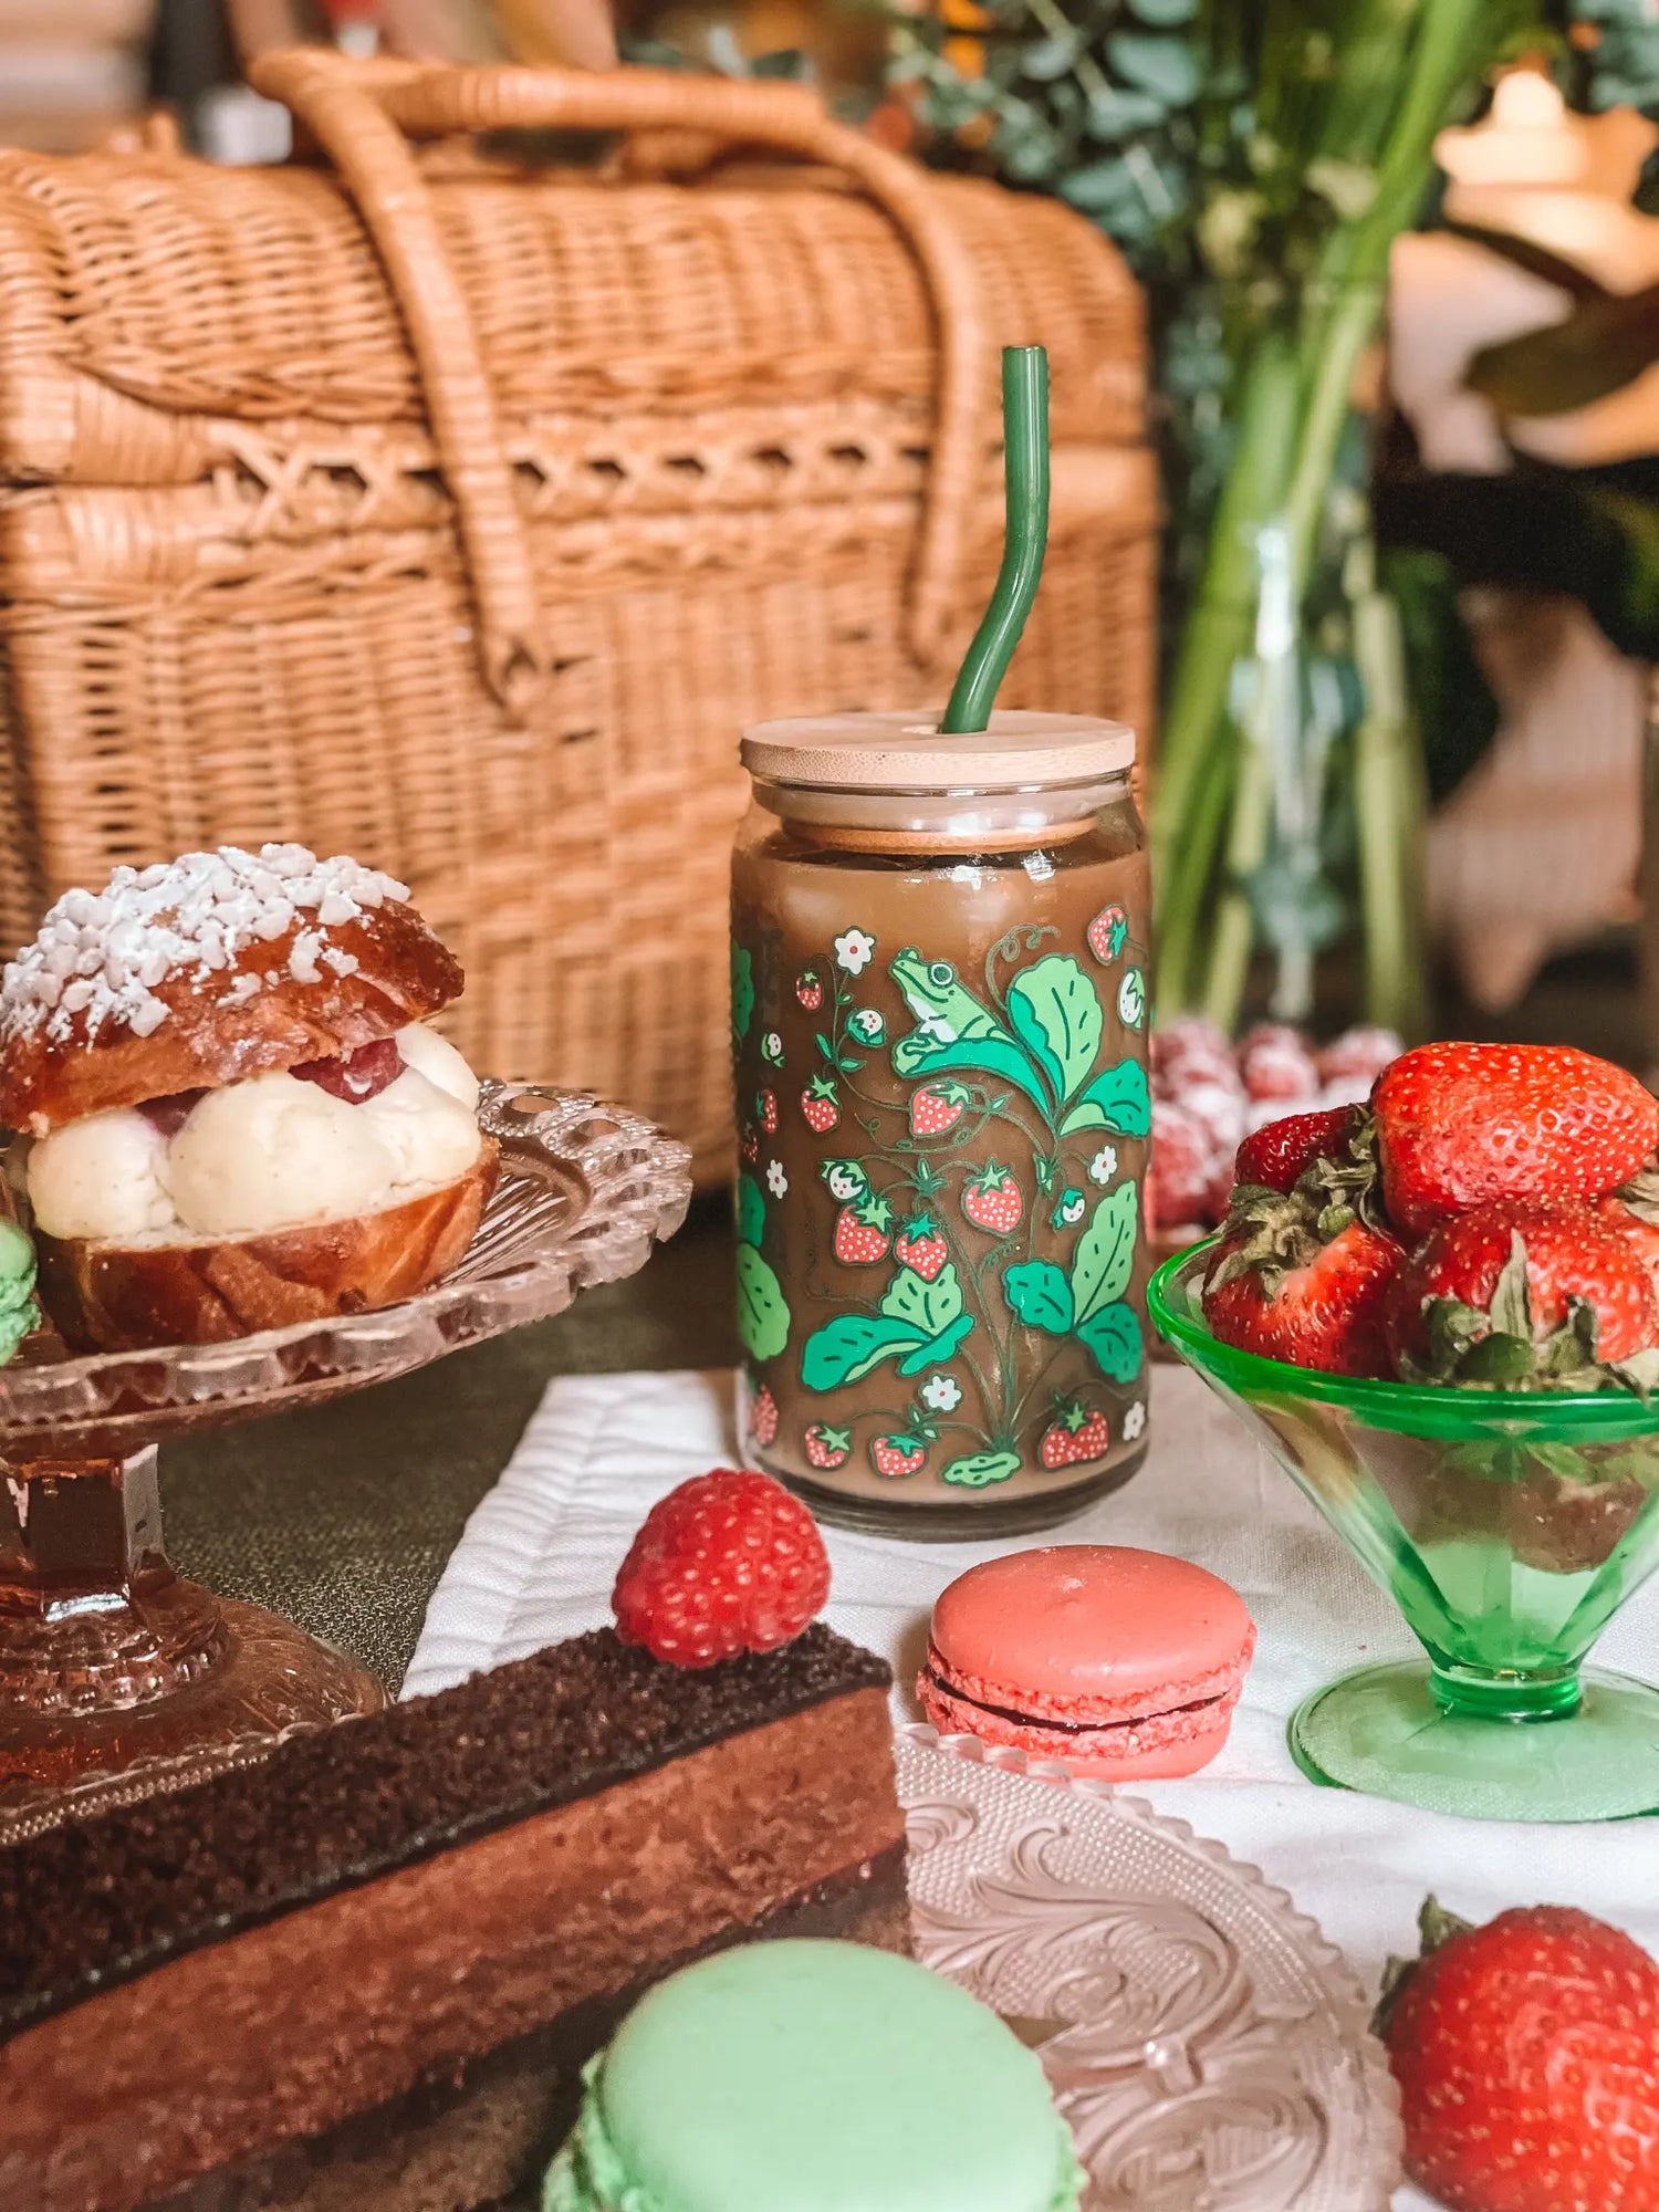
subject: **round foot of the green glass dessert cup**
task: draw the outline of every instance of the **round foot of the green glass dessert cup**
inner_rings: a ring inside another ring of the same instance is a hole
[[[1524,1686],[1515,1714],[1493,1686],[1486,1710],[1458,1686],[1436,1697],[1420,1659],[1363,1666],[1290,1719],[1290,1750],[1316,1783],[1398,1798],[1467,1820],[1628,1820],[1659,1812],[1659,1690],[1586,1672]],[[1579,1692],[1575,1697],[1575,1692]]]

